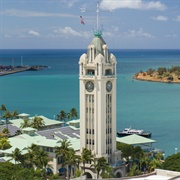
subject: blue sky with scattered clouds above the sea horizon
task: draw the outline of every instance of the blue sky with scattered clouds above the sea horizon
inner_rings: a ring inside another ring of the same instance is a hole
[[[0,0],[0,48],[87,48],[96,26],[96,3]],[[99,26],[109,48],[180,49],[180,0],[99,0],[99,7]]]

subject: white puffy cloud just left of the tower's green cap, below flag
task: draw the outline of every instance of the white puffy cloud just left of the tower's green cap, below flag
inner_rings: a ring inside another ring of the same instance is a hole
[[[75,36],[75,37],[85,37],[85,38],[89,38],[92,33],[90,34],[89,32],[77,32],[74,29],[72,29],[71,27],[64,27],[64,28],[59,28],[59,29],[55,29],[54,30],[55,33],[57,33],[60,36]]]

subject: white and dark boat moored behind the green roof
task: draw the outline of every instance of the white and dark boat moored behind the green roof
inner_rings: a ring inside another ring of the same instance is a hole
[[[142,129],[125,128],[123,131],[117,132],[118,136],[128,136],[128,135],[132,135],[132,134],[137,134],[139,136],[143,136],[143,137],[146,137],[146,138],[150,138],[151,137],[151,133],[150,132],[145,132]]]

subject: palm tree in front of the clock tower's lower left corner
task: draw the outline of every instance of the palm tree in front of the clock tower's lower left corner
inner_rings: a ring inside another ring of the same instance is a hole
[[[87,148],[83,148],[81,153],[81,162],[83,163],[84,173],[85,173],[85,164],[88,161],[94,161],[94,155],[92,154],[91,150]]]

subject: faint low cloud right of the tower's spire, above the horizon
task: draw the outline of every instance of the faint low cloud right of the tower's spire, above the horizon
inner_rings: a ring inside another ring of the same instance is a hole
[[[154,38],[153,35],[151,35],[150,33],[144,32],[144,30],[142,28],[140,28],[139,30],[129,30],[128,32],[125,33],[125,35],[127,37],[131,37],[131,38]]]

